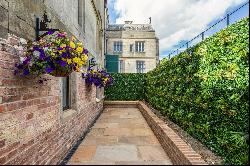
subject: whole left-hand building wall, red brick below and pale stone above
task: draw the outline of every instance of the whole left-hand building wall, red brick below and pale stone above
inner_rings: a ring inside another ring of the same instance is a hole
[[[0,0],[0,165],[60,164],[103,110],[103,91],[80,73],[45,75],[44,85],[13,74],[45,12],[49,28],[76,36],[104,67],[107,0]]]

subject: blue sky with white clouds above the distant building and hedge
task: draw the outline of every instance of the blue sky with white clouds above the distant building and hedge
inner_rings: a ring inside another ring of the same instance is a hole
[[[110,24],[149,23],[160,39],[160,59],[194,38],[227,13],[249,0],[108,0]],[[248,6],[232,15],[231,22],[249,15]],[[226,27],[226,20],[209,30],[209,36]],[[192,44],[198,43],[201,37]]]

